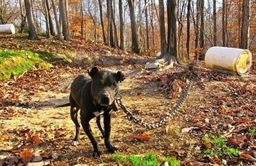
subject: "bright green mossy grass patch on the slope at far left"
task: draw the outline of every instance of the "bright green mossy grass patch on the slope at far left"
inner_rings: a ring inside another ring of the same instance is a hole
[[[0,79],[10,78],[12,75],[19,75],[24,71],[31,71],[35,68],[51,68],[49,54],[35,53],[30,50],[1,50],[0,49]],[[47,61],[46,61],[47,59]]]

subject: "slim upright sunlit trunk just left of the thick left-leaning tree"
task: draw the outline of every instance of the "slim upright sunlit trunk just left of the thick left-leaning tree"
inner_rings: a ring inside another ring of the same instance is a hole
[[[119,0],[119,15],[120,15],[120,48],[125,50],[125,22],[122,7],[122,0]]]

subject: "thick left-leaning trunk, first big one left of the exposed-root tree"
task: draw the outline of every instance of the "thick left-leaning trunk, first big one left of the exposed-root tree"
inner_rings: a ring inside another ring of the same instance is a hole
[[[135,0],[127,0],[129,11],[130,11],[130,19],[131,19],[131,44],[132,50],[134,53],[140,53],[140,46],[138,43],[138,33],[137,33],[137,24],[135,19]]]

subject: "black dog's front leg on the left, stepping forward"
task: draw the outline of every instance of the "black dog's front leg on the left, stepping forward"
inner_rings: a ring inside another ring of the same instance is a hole
[[[91,126],[89,124],[90,120],[91,118],[81,119],[82,127],[93,145],[93,157],[101,157],[102,154],[100,152],[98,141],[95,140],[95,138],[93,137],[93,133],[91,132]]]

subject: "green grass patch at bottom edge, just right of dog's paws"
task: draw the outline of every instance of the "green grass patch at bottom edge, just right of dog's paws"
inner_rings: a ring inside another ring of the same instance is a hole
[[[181,162],[174,157],[158,158],[158,156],[152,152],[145,155],[129,155],[115,154],[114,160],[119,160],[122,163],[131,163],[134,166],[158,166],[161,163],[168,162],[169,165],[179,166]]]

